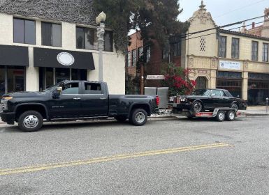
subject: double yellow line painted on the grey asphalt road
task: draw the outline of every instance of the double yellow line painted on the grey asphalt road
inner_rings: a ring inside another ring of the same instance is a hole
[[[165,155],[170,153],[182,153],[186,151],[192,150],[203,150],[208,148],[220,148],[220,147],[231,147],[231,145],[227,143],[212,143],[207,145],[200,145],[200,146],[187,146],[187,147],[180,147],[180,148],[168,148],[164,150],[150,150],[141,153],[131,153],[131,154],[122,154],[122,155],[113,155],[108,157],[96,157],[92,159],[84,159],[84,160],[77,160],[71,162],[57,162],[57,163],[50,163],[50,164],[39,164],[36,166],[22,166],[17,168],[10,168],[10,169],[0,169],[0,176],[12,175],[17,173],[27,173],[27,172],[34,172],[34,171],[43,171],[48,169],[57,169],[63,168],[67,166],[80,166],[85,164],[94,164],[99,162],[110,162],[119,159],[130,159],[135,157],[147,157],[147,156],[154,156],[154,155]]]

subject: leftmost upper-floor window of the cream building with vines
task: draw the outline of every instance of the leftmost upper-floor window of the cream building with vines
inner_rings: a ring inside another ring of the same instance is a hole
[[[13,42],[36,44],[36,22],[13,18]]]

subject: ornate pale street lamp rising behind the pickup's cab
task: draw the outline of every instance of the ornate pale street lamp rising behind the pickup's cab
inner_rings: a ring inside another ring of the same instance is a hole
[[[99,51],[99,81],[103,81],[103,49],[104,49],[103,36],[105,34],[105,21],[106,21],[106,14],[101,12],[96,17],[97,38],[98,38],[97,42]]]

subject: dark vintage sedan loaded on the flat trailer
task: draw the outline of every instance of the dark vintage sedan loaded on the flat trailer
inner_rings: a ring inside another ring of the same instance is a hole
[[[198,89],[191,95],[178,95],[169,98],[169,104],[174,111],[189,110],[196,113],[201,111],[213,111],[217,107],[246,109],[247,101],[234,98],[225,89]]]

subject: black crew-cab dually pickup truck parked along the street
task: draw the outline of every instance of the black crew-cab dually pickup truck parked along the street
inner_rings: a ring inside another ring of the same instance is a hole
[[[158,110],[159,97],[109,95],[105,82],[61,81],[45,91],[4,94],[0,116],[3,122],[17,122],[24,132],[39,130],[43,121],[108,118],[144,125]]]

